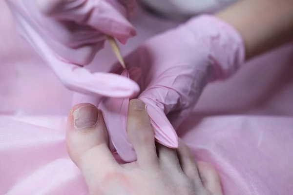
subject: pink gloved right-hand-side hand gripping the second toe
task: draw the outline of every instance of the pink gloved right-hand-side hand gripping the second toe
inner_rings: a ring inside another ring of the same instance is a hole
[[[201,16],[147,40],[125,61],[129,75],[124,71],[123,76],[141,87],[138,98],[147,105],[157,141],[176,148],[174,129],[179,130],[208,81],[231,76],[243,63],[244,45],[234,28],[212,16]],[[122,70],[118,66],[114,72]],[[99,108],[113,142],[111,148],[123,160],[135,160],[126,135],[128,99],[105,98]]]

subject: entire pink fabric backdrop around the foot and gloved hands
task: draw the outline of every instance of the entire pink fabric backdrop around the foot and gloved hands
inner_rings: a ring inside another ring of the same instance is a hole
[[[73,93],[17,35],[0,1],[0,194],[86,195],[65,150],[65,116]],[[138,37],[123,53],[177,25],[143,12]],[[146,30],[148,29],[148,30]],[[291,195],[293,186],[293,45],[252,60],[224,82],[209,84],[179,136],[196,158],[213,164],[225,195]],[[106,46],[89,66],[116,61]],[[100,66],[108,71],[108,66]],[[225,115],[225,116],[222,116]],[[210,117],[212,116],[212,117]]]

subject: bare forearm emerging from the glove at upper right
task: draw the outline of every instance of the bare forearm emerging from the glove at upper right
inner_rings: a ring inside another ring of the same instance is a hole
[[[239,31],[246,59],[293,40],[293,0],[241,0],[216,17]]]

